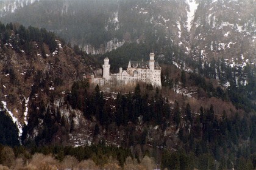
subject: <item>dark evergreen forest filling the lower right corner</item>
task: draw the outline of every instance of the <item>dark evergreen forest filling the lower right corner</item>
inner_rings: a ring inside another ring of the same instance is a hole
[[[179,128],[183,143],[177,151],[163,150],[161,167],[168,169],[255,169],[255,115],[238,113],[219,119],[210,109],[201,107],[200,115],[190,119],[184,109],[185,126]],[[191,125],[191,126],[190,126]]]

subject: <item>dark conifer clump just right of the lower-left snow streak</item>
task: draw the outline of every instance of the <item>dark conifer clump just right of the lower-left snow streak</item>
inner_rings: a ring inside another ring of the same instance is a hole
[[[43,123],[40,124],[41,129],[37,129],[38,135],[33,139],[37,145],[52,143],[57,132],[65,136],[70,131],[71,124],[68,124],[63,116],[60,118],[59,110],[57,109],[56,112],[52,107],[46,107],[43,100],[32,100],[28,114],[28,124],[23,127],[21,136],[21,142],[26,146],[30,145],[32,139],[29,136],[34,134],[34,130],[38,128],[41,120],[43,120]]]

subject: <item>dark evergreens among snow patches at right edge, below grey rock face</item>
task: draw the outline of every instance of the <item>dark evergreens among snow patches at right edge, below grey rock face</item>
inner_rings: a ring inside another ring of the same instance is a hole
[[[237,109],[244,109],[246,112],[256,110],[256,104],[254,103],[256,99],[255,66],[246,64],[244,68],[241,66],[231,67],[223,58],[217,61],[213,59],[210,63],[205,61],[204,68],[202,64],[201,57],[197,61],[188,60],[188,65],[195,69],[193,73],[190,73],[190,79],[194,81],[194,85],[199,86],[199,89],[204,89],[208,97],[218,97],[225,101],[232,101]],[[218,78],[219,83],[229,83],[230,86],[227,89],[221,86],[215,89],[213,84],[207,82],[205,78]],[[201,98],[200,92],[198,92],[198,95]]]

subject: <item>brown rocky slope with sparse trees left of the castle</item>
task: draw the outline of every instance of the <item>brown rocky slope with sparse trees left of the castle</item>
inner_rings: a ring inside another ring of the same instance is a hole
[[[85,64],[88,58],[44,29],[1,24],[0,32],[1,110],[7,111],[21,136],[33,101],[48,103],[92,67]]]

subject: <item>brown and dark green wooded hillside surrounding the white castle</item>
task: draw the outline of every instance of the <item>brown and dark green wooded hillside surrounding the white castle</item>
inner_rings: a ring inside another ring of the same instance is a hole
[[[0,33],[2,165],[255,169],[255,66],[188,58],[149,41],[88,55],[20,24],[1,24]],[[85,77],[106,56],[116,72],[129,60],[148,60],[152,50],[162,89],[100,87]]]

